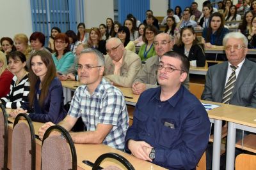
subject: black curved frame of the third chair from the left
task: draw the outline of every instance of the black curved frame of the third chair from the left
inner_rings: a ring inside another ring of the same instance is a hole
[[[68,131],[66,129],[64,129],[63,127],[61,127],[60,125],[53,125],[45,131],[45,134],[44,134],[44,137],[42,140],[42,148],[43,148],[45,139],[48,138],[49,134],[51,134],[51,132],[53,130],[59,130],[61,132],[61,134],[65,137],[65,139],[70,147],[70,151],[71,151],[72,170],[76,170],[77,169],[77,157],[76,157],[76,148],[75,148],[74,142],[73,142],[70,134],[68,133]],[[42,164],[41,164],[41,166],[42,166]]]

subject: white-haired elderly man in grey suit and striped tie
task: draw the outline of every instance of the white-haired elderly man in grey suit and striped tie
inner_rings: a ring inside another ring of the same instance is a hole
[[[248,40],[230,32],[223,45],[228,61],[209,67],[202,99],[256,108],[256,64],[245,58]]]

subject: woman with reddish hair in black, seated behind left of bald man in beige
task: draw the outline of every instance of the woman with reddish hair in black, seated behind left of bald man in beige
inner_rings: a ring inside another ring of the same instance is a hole
[[[87,40],[86,45],[88,48],[96,48],[103,54],[107,54],[106,52],[106,41],[102,40],[101,34],[98,28],[93,27],[90,30],[89,38]]]

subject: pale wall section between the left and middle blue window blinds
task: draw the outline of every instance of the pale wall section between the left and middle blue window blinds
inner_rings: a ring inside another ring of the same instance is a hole
[[[106,24],[106,18],[114,19],[113,0],[85,0],[84,19],[86,28],[99,27]]]

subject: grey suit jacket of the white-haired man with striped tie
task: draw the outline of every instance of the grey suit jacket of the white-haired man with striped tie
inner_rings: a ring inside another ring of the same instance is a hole
[[[228,62],[209,67],[202,99],[221,103],[225,89]],[[248,59],[237,76],[230,104],[256,108],[256,64]]]

